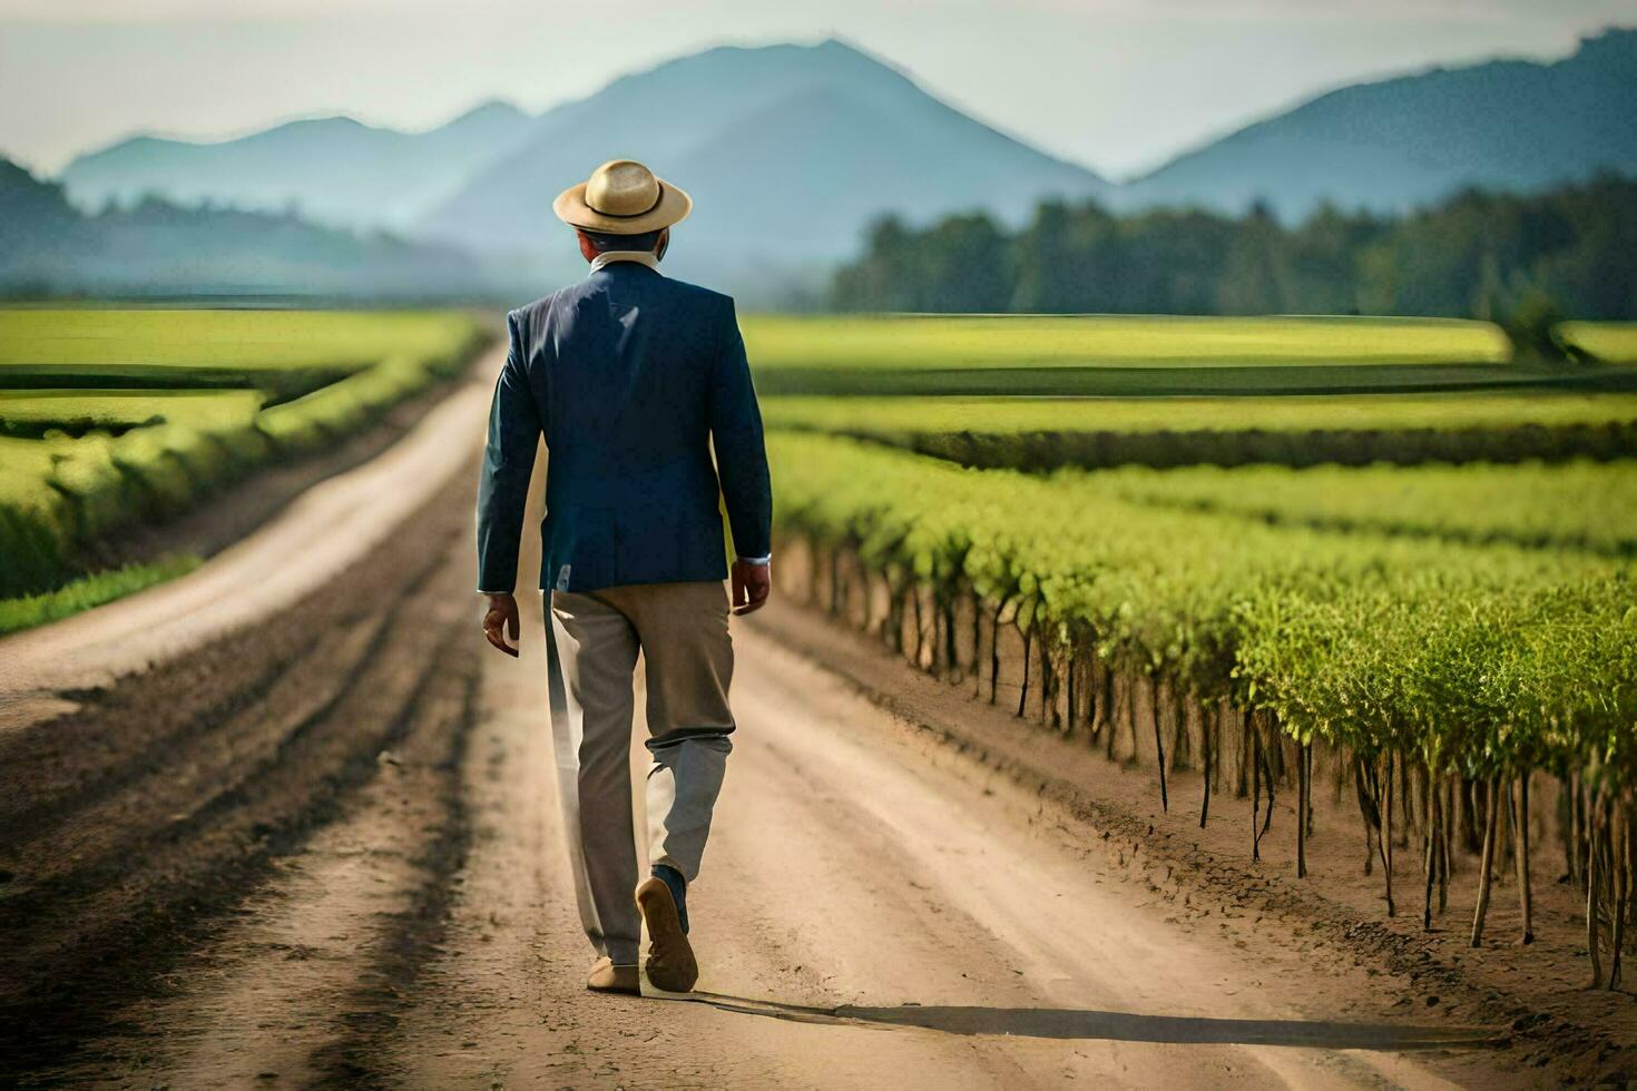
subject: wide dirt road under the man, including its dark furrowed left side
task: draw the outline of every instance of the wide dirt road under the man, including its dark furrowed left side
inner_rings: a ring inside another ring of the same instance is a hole
[[[275,617],[0,731],[0,1080],[1329,1088],[1486,1073],[1488,1053],[1406,1017],[1369,968],[1282,957],[1287,937],[1254,921],[1177,919],[1098,865],[1095,831],[764,623],[735,626],[742,730],[689,905],[701,991],[586,994],[539,604],[521,662],[486,651],[470,478]]]

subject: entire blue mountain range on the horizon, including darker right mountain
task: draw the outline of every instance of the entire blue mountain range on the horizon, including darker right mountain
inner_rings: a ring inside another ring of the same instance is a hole
[[[424,131],[349,114],[231,141],[136,134],[62,173],[80,209],[146,193],[178,206],[298,211],[481,254],[519,283],[570,273],[550,198],[632,155],[696,198],[668,262],[728,288],[822,270],[868,224],[987,211],[1007,226],[1043,198],[1128,213],[1195,206],[1282,219],[1324,203],[1398,214],[1465,188],[1539,191],[1598,170],[1637,173],[1637,29],[1583,38],[1557,61],[1501,57],[1362,80],[1187,149],[1121,186],[985,124],[846,41],[715,46],[532,114],[481,100]],[[558,260],[561,258],[561,260]]]

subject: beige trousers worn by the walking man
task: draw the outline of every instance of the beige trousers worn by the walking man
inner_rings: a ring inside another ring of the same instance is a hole
[[[552,738],[579,919],[599,955],[635,963],[642,921],[630,798],[632,679],[648,684],[648,862],[699,873],[732,749],[733,644],[720,582],[547,592]]]

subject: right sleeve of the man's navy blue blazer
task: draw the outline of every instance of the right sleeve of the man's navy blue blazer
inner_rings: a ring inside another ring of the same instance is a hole
[[[733,551],[760,558],[773,551],[773,484],[768,450],[761,438],[761,409],[750,379],[745,339],[738,332],[733,301],[727,301],[710,386],[710,442],[717,456],[717,481],[733,530]]]

